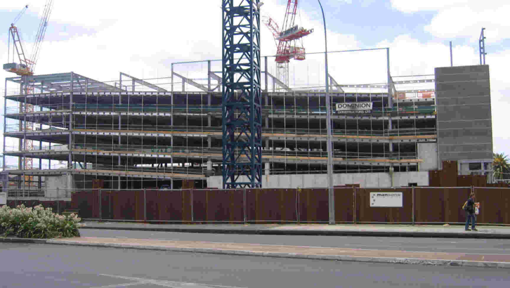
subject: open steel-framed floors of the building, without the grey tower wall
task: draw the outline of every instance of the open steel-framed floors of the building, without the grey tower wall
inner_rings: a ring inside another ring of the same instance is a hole
[[[271,73],[272,61],[262,62],[263,174],[326,173],[323,87],[285,86]],[[44,179],[59,176],[67,189],[204,188],[207,177],[221,177],[220,67],[216,60],[173,63],[168,77],[120,72],[110,82],[73,72],[6,78],[4,157],[39,165],[9,168],[4,161],[4,171],[18,188],[42,189]],[[417,146],[437,141],[433,75],[330,80],[331,107],[372,103],[366,114],[331,116],[334,173],[419,171]],[[8,95],[8,82],[27,81],[31,93]],[[29,105],[33,111],[21,109]],[[28,122],[34,128],[21,129]],[[29,141],[39,145],[29,149]]]

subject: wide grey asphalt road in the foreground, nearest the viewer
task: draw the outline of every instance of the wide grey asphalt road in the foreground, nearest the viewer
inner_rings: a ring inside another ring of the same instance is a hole
[[[2,287],[508,287],[507,269],[0,244]]]

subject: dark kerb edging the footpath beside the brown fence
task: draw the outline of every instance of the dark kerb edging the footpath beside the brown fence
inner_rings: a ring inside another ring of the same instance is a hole
[[[471,238],[510,239],[510,234],[483,232],[411,232],[411,231],[334,231],[334,230],[271,230],[271,229],[216,229],[216,228],[147,228],[147,227],[98,227],[81,226],[79,229],[137,230],[159,232],[216,233],[216,234],[260,234],[260,235],[329,235],[367,237],[414,237],[414,238]]]

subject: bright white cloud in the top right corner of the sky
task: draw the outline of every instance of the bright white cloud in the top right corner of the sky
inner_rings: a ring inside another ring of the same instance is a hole
[[[409,1],[392,0],[393,8],[405,13],[436,11],[424,30],[440,38],[468,37],[476,41],[482,27],[491,42],[510,35],[510,4],[499,0]]]

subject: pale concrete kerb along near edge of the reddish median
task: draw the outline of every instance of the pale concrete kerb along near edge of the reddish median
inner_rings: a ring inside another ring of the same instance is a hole
[[[469,266],[469,267],[490,267],[490,268],[510,268],[510,263],[490,262],[490,261],[468,261],[468,260],[444,260],[444,259],[421,259],[421,258],[391,258],[391,257],[369,257],[369,256],[342,256],[342,255],[316,255],[299,253],[278,253],[278,252],[259,252],[248,250],[226,250],[211,248],[187,248],[187,247],[164,247],[148,246],[136,244],[116,244],[116,243],[83,243],[68,240],[46,240],[47,244],[74,245],[74,246],[92,246],[92,247],[113,247],[123,249],[140,249],[156,251],[175,251],[175,252],[193,252],[208,254],[226,254],[226,255],[246,255],[246,256],[266,256],[280,258],[300,258],[300,259],[318,259],[318,260],[336,260],[336,261],[356,261],[369,263],[397,263],[397,264],[421,264],[435,266]]]

